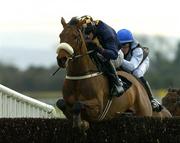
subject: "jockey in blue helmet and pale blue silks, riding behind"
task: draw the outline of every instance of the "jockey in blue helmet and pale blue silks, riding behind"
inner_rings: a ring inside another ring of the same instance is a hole
[[[148,93],[153,111],[161,111],[163,107],[153,97],[150,85],[144,78],[144,74],[149,68],[148,52],[141,47],[129,30],[121,29],[117,32],[117,35],[120,42],[120,48],[124,53],[121,68],[140,79]]]

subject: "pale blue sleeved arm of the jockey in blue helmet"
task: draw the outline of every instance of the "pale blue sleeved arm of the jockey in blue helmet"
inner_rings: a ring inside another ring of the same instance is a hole
[[[141,48],[136,48],[132,52],[132,57],[130,61],[123,59],[122,67],[125,70],[132,72],[139,66],[142,60],[143,60],[143,50]]]

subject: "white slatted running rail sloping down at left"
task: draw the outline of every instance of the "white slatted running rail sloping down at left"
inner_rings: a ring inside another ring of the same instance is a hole
[[[51,105],[20,94],[0,84],[0,118],[64,118]]]

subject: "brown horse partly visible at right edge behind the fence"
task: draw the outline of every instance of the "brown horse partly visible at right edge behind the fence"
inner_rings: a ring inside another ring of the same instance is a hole
[[[168,89],[167,94],[162,98],[162,105],[172,116],[180,116],[180,89]]]

